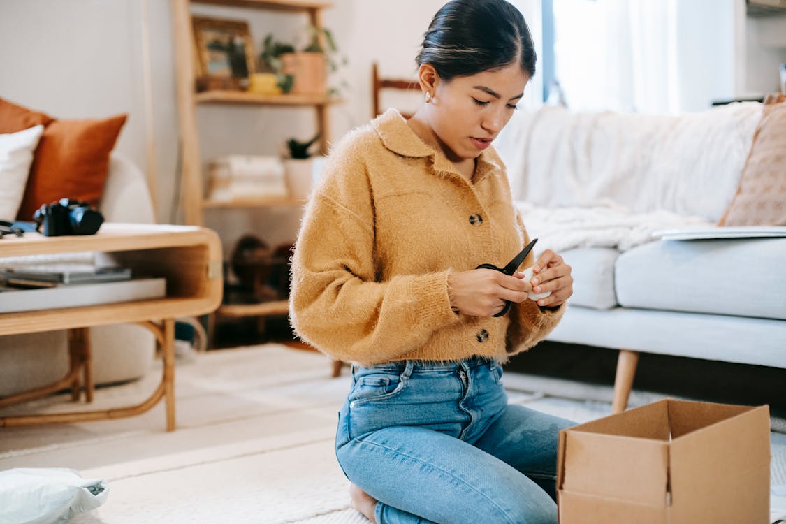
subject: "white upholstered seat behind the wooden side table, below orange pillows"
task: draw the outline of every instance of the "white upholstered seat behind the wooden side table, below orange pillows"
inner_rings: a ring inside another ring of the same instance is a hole
[[[107,222],[155,222],[145,176],[121,156],[111,158],[100,209]],[[0,397],[61,379],[68,371],[66,335],[57,331],[0,336]],[[155,338],[141,326],[90,328],[90,339],[96,384],[137,379],[152,365]]]

